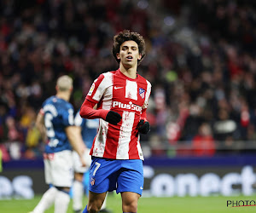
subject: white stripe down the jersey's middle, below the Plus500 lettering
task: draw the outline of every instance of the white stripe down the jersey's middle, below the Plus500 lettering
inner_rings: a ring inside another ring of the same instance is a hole
[[[129,144],[131,141],[132,126],[135,112],[124,111],[122,115],[122,125],[119,131],[119,145],[117,147],[117,159],[129,159]]]

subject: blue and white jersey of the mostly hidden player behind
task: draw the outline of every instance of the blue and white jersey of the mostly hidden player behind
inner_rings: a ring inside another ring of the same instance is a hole
[[[83,141],[86,147],[90,148],[99,127],[99,119],[84,119],[81,118],[79,112],[77,112],[74,119],[74,124],[82,128],[81,134]]]

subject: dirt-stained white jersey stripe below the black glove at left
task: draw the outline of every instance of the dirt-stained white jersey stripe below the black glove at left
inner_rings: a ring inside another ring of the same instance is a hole
[[[108,122],[100,119],[100,128],[96,135],[93,153],[96,157],[103,157],[108,135]]]

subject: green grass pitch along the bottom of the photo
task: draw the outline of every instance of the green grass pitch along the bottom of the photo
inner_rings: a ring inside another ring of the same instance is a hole
[[[0,200],[1,213],[27,213],[32,210],[41,196],[34,199],[6,199]],[[138,203],[138,213],[222,213],[222,212],[255,212],[256,206],[227,207],[227,200],[256,200],[256,197],[172,197],[172,198],[141,198]],[[87,199],[84,198],[84,204]],[[113,213],[122,213],[121,198],[119,195],[108,195],[108,208]],[[53,213],[51,207],[45,213]],[[73,213],[72,199],[68,207],[68,213]]]

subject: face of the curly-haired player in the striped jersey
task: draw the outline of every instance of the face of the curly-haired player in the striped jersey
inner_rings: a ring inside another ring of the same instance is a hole
[[[117,58],[125,66],[125,68],[131,68],[137,66],[137,60],[141,60],[142,55],[139,54],[137,43],[134,41],[126,41],[120,46],[120,51],[117,54]]]

